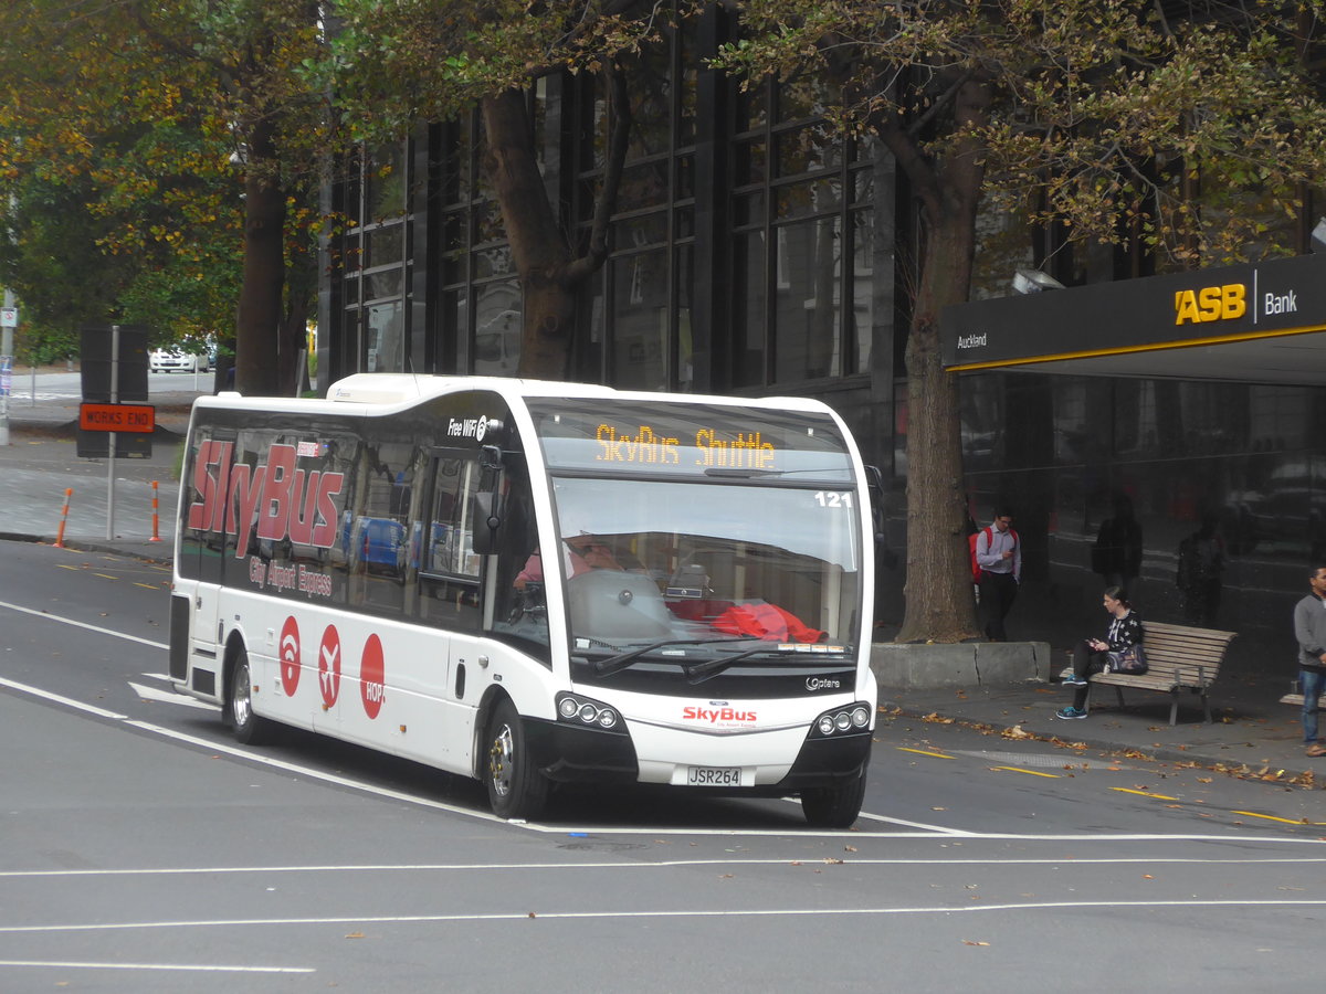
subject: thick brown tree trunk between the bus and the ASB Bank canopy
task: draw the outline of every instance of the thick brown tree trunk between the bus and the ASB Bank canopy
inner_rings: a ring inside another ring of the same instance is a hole
[[[983,123],[985,83],[959,90],[960,129]],[[959,138],[922,188],[924,243],[907,339],[907,610],[898,641],[976,637],[957,376],[944,371],[939,317],[971,293],[984,171],[973,138]]]

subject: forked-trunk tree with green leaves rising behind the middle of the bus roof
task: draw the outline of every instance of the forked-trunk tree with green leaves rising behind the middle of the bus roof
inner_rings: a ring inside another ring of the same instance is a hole
[[[518,375],[564,379],[577,290],[607,258],[626,162],[633,60],[662,42],[688,0],[339,0],[329,87],[367,146],[477,109],[484,168],[501,208],[524,297]],[[526,91],[553,72],[601,77],[611,131],[583,244],[564,231],[540,171]]]

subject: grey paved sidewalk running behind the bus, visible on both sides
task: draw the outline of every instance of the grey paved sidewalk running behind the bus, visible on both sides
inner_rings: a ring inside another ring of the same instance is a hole
[[[54,542],[65,488],[73,489],[64,542],[70,549],[114,551],[168,562],[174,549],[176,478],[180,449],[195,392],[156,392],[156,432],[150,459],[117,459],[115,516],[107,538],[107,460],[80,459],[76,451],[78,398],[11,400],[9,441],[0,447],[0,539]],[[158,481],[158,525],[152,538],[152,488]],[[1014,634],[1053,647],[1053,673],[1067,663],[1067,648],[1105,630],[1095,603],[1079,596],[1055,603],[1053,592],[1026,591],[1010,616]],[[1082,602],[1082,603],[1079,603]],[[1303,754],[1296,708],[1278,702],[1296,676],[1296,647],[1286,606],[1284,636],[1240,636],[1229,651],[1211,702],[1215,724],[1201,722],[1200,698],[1188,696],[1170,726],[1166,694],[1126,690],[1116,706],[1113,688],[1093,690],[1091,716],[1063,721],[1054,712],[1071,702],[1071,690],[1054,683],[998,684],[963,689],[880,687],[886,714],[919,721],[963,722],[1009,738],[1041,738],[1082,749],[1150,757],[1241,771],[1301,786],[1326,786],[1326,758]],[[880,630],[882,637],[891,632]],[[1326,717],[1323,717],[1326,728]],[[1065,751],[1065,762],[1074,753]],[[1321,777],[1314,777],[1315,771]],[[1152,785],[1155,787],[1155,785]],[[1163,791],[1163,787],[1160,787]]]

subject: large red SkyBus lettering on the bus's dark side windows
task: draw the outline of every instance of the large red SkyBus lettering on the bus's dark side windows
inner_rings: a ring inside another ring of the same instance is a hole
[[[267,461],[256,467],[231,465],[233,448],[232,441],[199,447],[194,489],[200,498],[188,509],[188,527],[236,535],[236,559],[248,551],[255,518],[259,538],[330,549],[337,520],[333,497],[345,486],[345,473],[296,469],[297,449],[284,444],[273,444]]]

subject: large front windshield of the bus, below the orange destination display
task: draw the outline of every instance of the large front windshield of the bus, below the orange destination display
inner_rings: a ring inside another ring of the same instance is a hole
[[[851,490],[562,477],[553,493],[578,649],[854,641]]]

